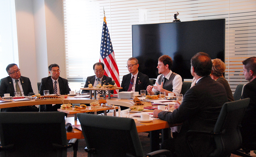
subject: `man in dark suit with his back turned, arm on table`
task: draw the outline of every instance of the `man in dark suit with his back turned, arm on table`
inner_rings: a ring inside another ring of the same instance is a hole
[[[228,102],[224,86],[209,76],[211,69],[212,61],[209,55],[197,53],[191,59],[191,74],[196,79],[196,85],[185,93],[179,108],[173,112],[153,112],[155,117],[170,123],[183,123],[178,136],[173,140],[174,153],[178,157],[192,156],[185,140],[186,132],[213,131],[223,104]],[[208,157],[214,149],[214,142],[208,135],[192,136],[189,140],[195,156]]]

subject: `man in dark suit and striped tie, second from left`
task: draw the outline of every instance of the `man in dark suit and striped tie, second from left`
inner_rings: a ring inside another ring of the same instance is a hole
[[[42,78],[39,93],[44,95],[44,90],[49,90],[50,94],[69,94],[70,88],[68,86],[68,80],[60,77],[60,67],[58,64],[51,64],[48,67],[49,74],[51,76]],[[57,111],[61,104],[43,105],[46,106],[45,111]]]

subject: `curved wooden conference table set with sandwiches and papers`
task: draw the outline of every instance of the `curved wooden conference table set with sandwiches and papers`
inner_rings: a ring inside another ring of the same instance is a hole
[[[26,100],[26,101],[13,101],[10,102],[2,102],[0,103],[0,108],[7,108],[7,107],[19,107],[19,106],[30,106],[30,105],[44,105],[44,104],[90,104],[91,102],[97,101],[90,98],[74,98],[74,96],[68,96],[67,98],[64,95],[60,95],[58,99],[43,99],[43,100]],[[97,99],[101,99],[98,97]],[[106,98],[103,98],[106,99]],[[118,99],[118,98],[111,98],[106,99],[107,103],[110,105],[117,105],[117,106],[126,106],[130,107],[132,104],[130,101],[132,99]],[[143,107],[152,106],[150,102],[143,102]],[[153,112],[153,110],[147,110],[147,112]],[[141,123],[138,122],[137,119],[134,119],[135,123],[139,124],[136,125],[138,132],[150,132],[150,147],[151,151],[159,150],[159,133],[161,130],[162,140],[167,139],[169,137],[169,128],[178,126],[181,124],[172,124],[168,123],[163,120],[153,120],[148,123]],[[79,120],[74,119],[74,117],[66,118],[66,123],[71,123],[72,125],[79,125]],[[67,133],[67,139],[77,138],[83,139],[83,133],[81,130],[73,128],[74,132]]]

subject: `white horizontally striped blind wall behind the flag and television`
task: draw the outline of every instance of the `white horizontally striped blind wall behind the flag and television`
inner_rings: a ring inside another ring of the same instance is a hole
[[[76,6],[75,11],[69,9],[72,5]],[[173,14],[178,11],[178,18],[181,21],[226,19],[225,78],[233,92],[238,84],[248,82],[242,73],[242,61],[256,56],[255,0],[91,0],[90,2],[64,0],[66,64],[69,80],[83,78],[85,81],[87,76],[94,75],[92,64],[99,60],[103,6],[119,68],[120,81],[123,75],[129,73],[126,62],[132,57],[131,26],[172,22]],[[68,19],[67,17],[71,14],[74,16]],[[77,21],[86,22],[69,27]],[[77,29],[79,26],[81,30]],[[75,46],[71,46],[70,33],[74,33],[75,38],[86,38],[88,41],[77,42]],[[77,50],[73,51],[71,48]],[[75,64],[79,64],[79,67]]]

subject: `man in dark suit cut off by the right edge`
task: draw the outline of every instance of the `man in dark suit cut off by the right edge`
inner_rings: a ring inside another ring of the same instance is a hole
[[[241,122],[242,146],[250,148],[251,142],[256,142],[256,57],[250,57],[243,62],[243,74],[247,81],[241,99],[250,98]]]

